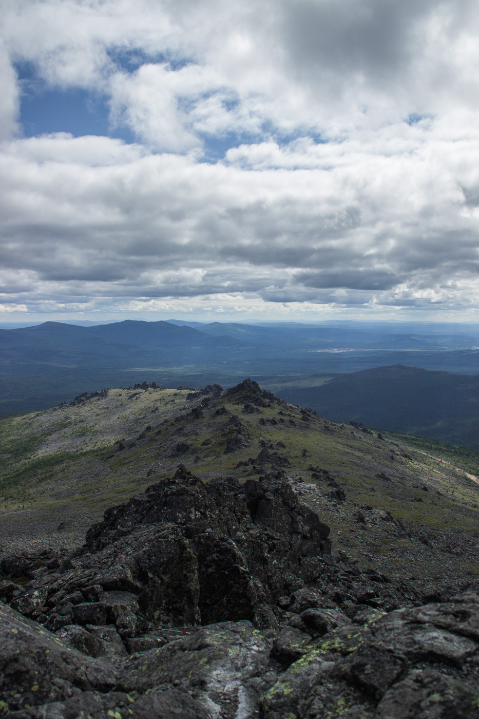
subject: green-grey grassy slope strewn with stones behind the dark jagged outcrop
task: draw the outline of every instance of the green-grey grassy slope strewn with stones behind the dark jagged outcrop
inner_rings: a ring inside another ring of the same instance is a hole
[[[311,487],[306,499],[332,527],[337,548],[360,562],[380,555],[391,572],[411,572],[413,567],[426,584],[434,584],[434,577],[447,572],[477,572],[473,557],[467,564],[440,542],[433,551],[434,543],[426,547],[414,539],[423,528],[441,530],[447,534],[445,545],[452,546],[457,531],[477,533],[479,485],[464,472],[427,457],[412,440],[408,445],[403,436],[382,441],[375,434],[321,418],[304,422],[291,405],[273,404],[259,414],[243,414],[242,404],[225,397],[205,408],[204,417],[194,419],[191,407],[199,400],[187,401],[187,394],[110,390],[108,397],[81,406],[1,419],[0,544],[14,548],[14,536],[37,538],[44,544],[47,537],[50,545],[81,541],[105,508],[171,476],[179,462],[206,481],[218,475],[243,480],[250,476],[250,468],[237,463],[257,457],[262,441],[282,441],[286,449],[276,451],[288,456],[288,475],[302,477]],[[216,415],[220,406],[227,415]],[[232,415],[247,427],[250,446],[224,454]],[[262,426],[261,418],[275,418],[278,423]],[[147,426],[151,429],[145,431]],[[122,441],[124,449],[118,450],[116,441]],[[178,442],[190,445],[186,454],[174,454]],[[330,472],[345,490],[346,503],[330,498],[331,487],[311,477],[310,464]],[[460,460],[455,464],[460,465]],[[469,457],[465,468],[470,471],[470,467]],[[359,505],[370,505],[373,512],[391,511],[411,528],[411,536],[392,536],[388,522],[371,521],[359,527],[354,521]],[[66,523],[67,533],[57,531],[60,522]]]

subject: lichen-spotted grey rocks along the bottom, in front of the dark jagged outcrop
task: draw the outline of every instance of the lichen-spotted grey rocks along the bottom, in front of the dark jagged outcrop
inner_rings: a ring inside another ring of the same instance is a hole
[[[126,656],[124,649],[106,652],[108,642],[123,646],[113,625],[68,626],[55,636],[0,605],[0,713],[14,719],[478,717],[477,595],[396,610],[363,626],[335,610],[308,609],[296,619],[298,626],[291,620],[265,632],[246,620],[170,630],[169,641],[150,631],[137,646],[127,638],[137,653]]]

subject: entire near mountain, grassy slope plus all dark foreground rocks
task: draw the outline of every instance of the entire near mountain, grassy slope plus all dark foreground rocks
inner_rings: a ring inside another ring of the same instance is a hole
[[[0,716],[479,718],[475,477],[250,380],[4,437]]]

